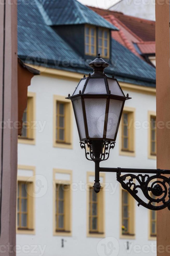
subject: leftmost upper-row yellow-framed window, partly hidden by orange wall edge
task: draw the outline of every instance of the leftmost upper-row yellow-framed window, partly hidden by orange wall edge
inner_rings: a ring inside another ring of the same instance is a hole
[[[35,144],[35,93],[28,92],[27,107],[22,118],[22,135],[18,136],[19,143]]]

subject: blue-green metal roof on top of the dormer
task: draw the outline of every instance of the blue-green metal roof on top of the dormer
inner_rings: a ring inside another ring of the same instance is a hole
[[[35,0],[44,21],[49,26],[91,24],[112,30],[117,28],[102,16],[76,0]]]

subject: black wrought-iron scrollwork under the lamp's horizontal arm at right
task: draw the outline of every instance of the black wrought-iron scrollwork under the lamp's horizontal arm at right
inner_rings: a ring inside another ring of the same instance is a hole
[[[159,180],[156,180],[157,178],[159,178]],[[166,207],[170,210],[170,178],[167,178],[160,173],[156,173],[149,177],[148,174],[125,174],[121,176],[121,173],[117,172],[117,181],[120,182],[123,189],[126,189],[134,199],[138,201],[138,206],[142,205],[147,209],[156,211]],[[144,202],[137,195],[139,189],[148,200],[148,203]],[[157,205],[158,203],[159,205]]]

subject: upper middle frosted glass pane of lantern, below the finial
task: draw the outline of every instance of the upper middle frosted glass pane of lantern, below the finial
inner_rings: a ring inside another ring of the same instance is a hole
[[[104,78],[89,79],[84,94],[106,94]]]

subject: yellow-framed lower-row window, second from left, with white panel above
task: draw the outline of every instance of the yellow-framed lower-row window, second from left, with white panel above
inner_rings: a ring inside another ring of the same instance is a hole
[[[53,235],[71,235],[71,171],[53,170],[54,224]]]

